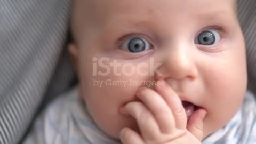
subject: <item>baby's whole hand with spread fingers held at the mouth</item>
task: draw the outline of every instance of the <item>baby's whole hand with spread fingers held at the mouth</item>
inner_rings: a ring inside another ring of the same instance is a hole
[[[135,118],[141,134],[125,127],[120,132],[124,144],[201,143],[206,111],[194,111],[187,123],[179,96],[164,80],[157,83],[156,91],[142,87],[137,97],[142,102],[127,103],[122,111]]]

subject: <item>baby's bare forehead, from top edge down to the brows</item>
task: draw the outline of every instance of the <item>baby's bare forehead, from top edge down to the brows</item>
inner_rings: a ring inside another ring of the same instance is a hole
[[[236,0],[73,0],[71,25],[73,32],[80,33],[81,28],[121,26],[136,21],[158,21],[162,25],[167,20],[188,22],[188,18],[207,21],[216,15],[236,18],[235,7]]]

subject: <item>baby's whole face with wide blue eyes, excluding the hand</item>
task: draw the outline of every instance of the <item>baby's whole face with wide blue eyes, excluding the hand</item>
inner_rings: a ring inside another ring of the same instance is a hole
[[[77,0],[70,47],[79,92],[94,121],[119,137],[137,130],[119,113],[158,79],[204,108],[204,138],[234,116],[246,90],[245,45],[234,0]]]

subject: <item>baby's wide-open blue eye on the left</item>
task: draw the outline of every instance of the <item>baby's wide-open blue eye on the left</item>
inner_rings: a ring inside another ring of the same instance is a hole
[[[151,48],[150,43],[142,37],[132,37],[126,39],[121,45],[121,49],[132,53],[143,52]]]

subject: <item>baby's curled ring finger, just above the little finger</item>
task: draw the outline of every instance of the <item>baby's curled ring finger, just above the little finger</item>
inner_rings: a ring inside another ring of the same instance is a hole
[[[129,115],[136,119],[141,135],[144,139],[156,139],[159,128],[153,114],[143,103],[134,101],[125,105],[124,109]]]

